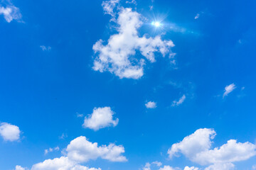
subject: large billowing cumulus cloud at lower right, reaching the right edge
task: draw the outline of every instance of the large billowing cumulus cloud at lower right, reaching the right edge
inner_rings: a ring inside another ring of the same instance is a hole
[[[192,162],[201,165],[230,164],[240,162],[255,156],[256,146],[250,142],[240,143],[228,140],[225,145],[210,149],[216,133],[212,129],[199,129],[188,135],[181,142],[171,146],[168,150],[169,157],[178,157],[178,153],[185,155]],[[210,166],[213,167],[213,166]]]

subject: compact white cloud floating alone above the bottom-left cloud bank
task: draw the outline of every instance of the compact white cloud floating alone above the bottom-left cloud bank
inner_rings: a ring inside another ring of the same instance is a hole
[[[111,111],[110,107],[94,108],[91,115],[85,118],[83,124],[84,128],[90,128],[92,130],[99,130],[118,124],[119,119],[113,119],[114,112]]]

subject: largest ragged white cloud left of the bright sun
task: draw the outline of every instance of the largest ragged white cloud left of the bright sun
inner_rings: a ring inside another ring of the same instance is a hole
[[[155,52],[165,56],[170,53],[170,47],[174,47],[171,40],[161,40],[158,35],[154,38],[139,37],[138,28],[142,26],[142,16],[131,8],[121,8],[117,18],[117,31],[111,35],[104,45],[103,40],[98,40],[93,45],[97,57],[93,69],[99,72],[111,72],[120,79],[139,79],[144,74],[144,58],[138,58],[140,54],[150,62],[155,62]]]

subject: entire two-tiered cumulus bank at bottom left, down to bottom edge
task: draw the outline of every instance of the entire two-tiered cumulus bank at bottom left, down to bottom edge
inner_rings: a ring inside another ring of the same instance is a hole
[[[34,164],[31,170],[101,170],[100,168],[88,168],[80,164],[97,158],[107,159],[110,162],[126,162],[127,158],[122,156],[123,153],[124,147],[122,145],[98,146],[97,142],[89,142],[86,137],[81,136],[70,142],[63,151],[63,157],[46,159]],[[16,170],[24,169],[21,166],[16,166]]]

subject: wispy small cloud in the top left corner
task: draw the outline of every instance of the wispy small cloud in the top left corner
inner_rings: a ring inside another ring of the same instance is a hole
[[[4,19],[8,23],[13,20],[20,21],[22,17],[19,9],[12,4],[9,4],[6,7],[0,5],[0,15],[4,15]]]

